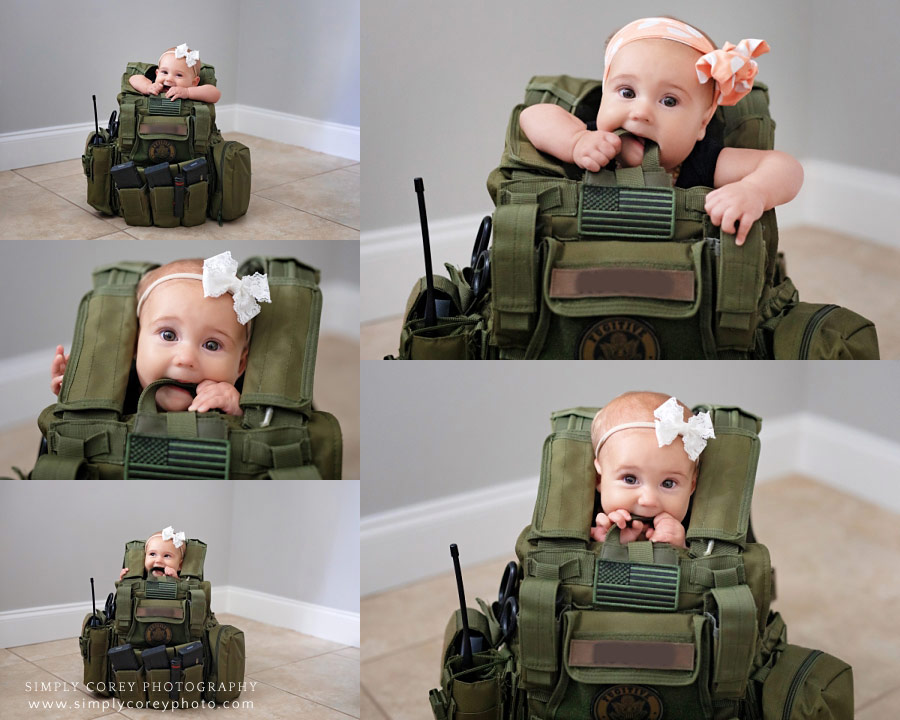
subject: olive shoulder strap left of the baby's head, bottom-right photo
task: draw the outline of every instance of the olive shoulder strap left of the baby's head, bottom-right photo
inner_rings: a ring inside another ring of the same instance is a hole
[[[547,438],[529,538],[589,542],[595,475],[587,433],[563,430]]]

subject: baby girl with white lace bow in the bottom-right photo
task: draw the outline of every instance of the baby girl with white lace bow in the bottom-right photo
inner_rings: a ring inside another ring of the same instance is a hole
[[[685,547],[682,520],[700,453],[714,437],[709,413],[691,415],[674,397],[627,392],[612,400],[591,423],[603,507],[591,537],[603,542],[616,525],[622,543],[645,538]]]

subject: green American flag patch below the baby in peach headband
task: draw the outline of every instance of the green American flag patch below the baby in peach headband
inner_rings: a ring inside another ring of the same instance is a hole
[[[674,230],[672,188],[581,185],[578,231],[582,235],[668,240]]]

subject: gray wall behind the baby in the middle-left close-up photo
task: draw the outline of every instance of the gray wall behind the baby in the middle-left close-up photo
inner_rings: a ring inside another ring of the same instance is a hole
[[[359,246],[335,241],[220,241],[164,240],[153,243],[120,240],[2,241],[0,267],[6,278],[0,283],[0,306],[5,312],[0,328],[13,342],[0,343],[0,360],[72,342],[81,297],[91,288],[91,271],[121,260],[165,263],[183,257],[210,257],[230,250],[241,262],[251,255],[293,256],[322,271],[322,283],[343,282],[359,286]],[[327,304],[328,298],[324,298]],[[52,358],[51,358],[52,359]],[[50,359],[48,359],[48,367]]]

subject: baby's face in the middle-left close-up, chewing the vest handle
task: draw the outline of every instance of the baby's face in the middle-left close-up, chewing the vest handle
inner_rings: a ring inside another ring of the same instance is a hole
[[[237,321],[226,293],[203,297],[198,280],[168,280],[152,290],[141,307],[136,365],[141,387],[160,378],[185,383],[203,380],[232,385],[247,364],[247,330]],[[187,410],[192,395],[167,385],[156,392],[165,411]]]

